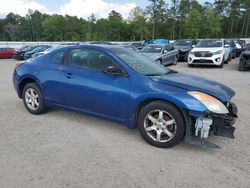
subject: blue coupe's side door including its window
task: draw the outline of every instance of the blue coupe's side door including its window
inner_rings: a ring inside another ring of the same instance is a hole
[[[70,50],[67,62],[61,74],[68,106],[104,117],[126,118],[130,79],[103,72],[109,66],[121,68],[119,64],[106,53],[87,48]]]

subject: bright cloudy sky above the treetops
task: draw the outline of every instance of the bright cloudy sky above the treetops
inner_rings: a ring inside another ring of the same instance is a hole
[[[213,0],[199,1],[213,2]],[[116,10],[126,18],[134,7],[144,8],[148,4],[148,0],[0,0],[0,17],[9,12],[24,16],[28,9],[32,9],[42,13],[68,14],[83,18],[89,17],[92,13],[98,18],[106,18],[111,10]]]

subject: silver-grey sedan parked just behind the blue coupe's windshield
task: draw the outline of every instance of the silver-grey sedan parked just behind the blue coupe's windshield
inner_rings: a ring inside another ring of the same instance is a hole
[[[169,44],[149,44],[140,53],[164,66],[176,65],[179,58],[179,51]]]

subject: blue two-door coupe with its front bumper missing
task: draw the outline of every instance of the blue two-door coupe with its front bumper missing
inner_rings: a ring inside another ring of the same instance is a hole
[[[179,73],[114,45],[76,45],[17,64],[13,83],[32,114],[66,108],[137,127],[156,147],[184,139],[218,147],[210,134],[234,138],[235,92],[218,82]]]

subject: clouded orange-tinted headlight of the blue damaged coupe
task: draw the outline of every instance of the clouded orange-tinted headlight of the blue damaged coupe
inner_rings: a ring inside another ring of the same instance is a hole
[[[211,112],[214,112],[216,114],[229,113],[224,104],[222,104],[219,100],[210,95],[199,91],[189,91],[188,94],[199,100]]]

